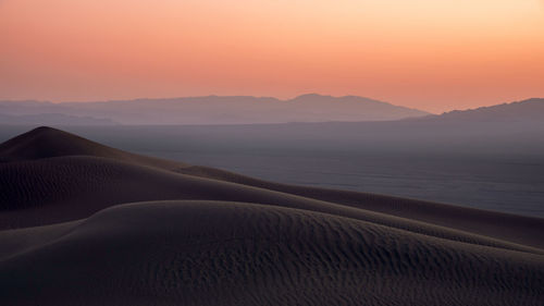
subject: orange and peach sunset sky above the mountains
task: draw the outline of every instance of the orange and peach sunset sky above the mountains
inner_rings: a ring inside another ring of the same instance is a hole
[[[0,0],[0,99],[544,97],[544,0]]]

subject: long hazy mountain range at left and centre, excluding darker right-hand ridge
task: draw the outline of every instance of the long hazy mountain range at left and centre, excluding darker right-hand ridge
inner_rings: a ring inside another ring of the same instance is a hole
[[[52,114],[64,115],[58,122]],[[290,100],[269,97],[187,97],[100,102],[0,101],[0,123],[41,124],[254,124],[287,122],[391,121],[428,112],[363,97],[309,94]],[[28,118],[32,117],[32,118]],[[75,117],[75,118],[74,118]],[[30,120],[32,119],[32,120]]]

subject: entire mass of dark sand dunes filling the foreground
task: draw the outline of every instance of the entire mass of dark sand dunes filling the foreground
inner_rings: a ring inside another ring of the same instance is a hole
[[[1,305],[544,305],[544,220],[0,145]]]

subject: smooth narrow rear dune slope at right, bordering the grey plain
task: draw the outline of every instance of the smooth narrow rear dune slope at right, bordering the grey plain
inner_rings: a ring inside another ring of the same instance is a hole
[[[541,218],[516,216],[498,211],[473,209],[386,195],[287,185],[201,166],[189,166],[174,171],[199,178],[244,184],[342,204],[441,227],[479,233],[482,235],[500,236],[502,238],[508,241],[516,241],[518,243],[528,243],[530,245],[544,247],[544,240],[535,240],[535,236],[539,235],[537,232],[544,233],[544,220]]]

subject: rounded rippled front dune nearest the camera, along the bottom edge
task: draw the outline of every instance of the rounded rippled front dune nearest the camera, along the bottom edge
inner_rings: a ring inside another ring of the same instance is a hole
[[[544,296],[542,256],[306,210],[146,203],[69,228],[0,260],[3,303],[529,306]]]

